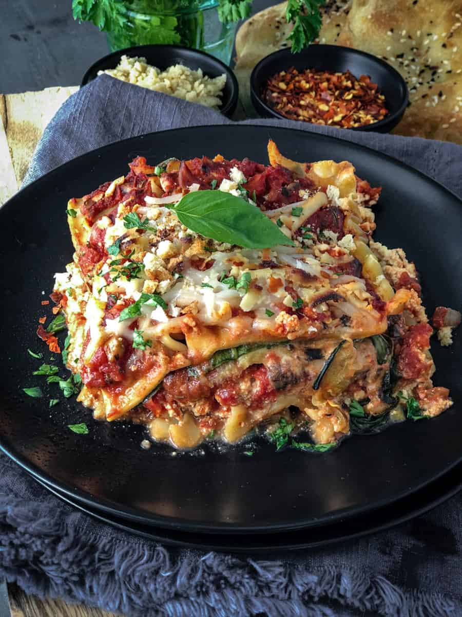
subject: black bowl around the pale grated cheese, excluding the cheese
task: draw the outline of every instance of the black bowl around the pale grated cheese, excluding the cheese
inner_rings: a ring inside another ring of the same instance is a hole
[[[209,77],[219,77],[226,74],[226,83],[222,94],[222,103],[219,110],[227,117],[235,112],[238,101],[239,86],[232,70],[224,62],[197,49],[189,49],[180,45],[140,45],[119,49],[118,51],[100,58],[91,65],[83,76],[81,86],[98,76],[99,71],[116,68],[122,56],[142,57],[148,64],[165,70],[173,64],[183,64],[185,67],[197,70],[201,68]]]

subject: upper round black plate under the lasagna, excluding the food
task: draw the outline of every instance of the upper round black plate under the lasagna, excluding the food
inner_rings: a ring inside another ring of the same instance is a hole
[[[318,526],[366,513],[411,494],[450,470],[462,457],[460,431],[461,337],[442,349],[434,344],[435,382],[455,399],[436,420],[406,422],[374,436],[356,436],[337,450],[310,455],[276,453],[259,445],[220,453],[209,449],[172,456],[163,445],[140,448],[140,426],[96,423],[75,402],[49,410],[21,388],[43,383],[26,348],[43,349],[34,336],[44,313],[42,291],[71,259],[64,215],[70,196],[126,173],[135,155],[156,162],[171,155],[221,152],[264,162],[272,137],[299,160],[351,160],[357,173],[382,184],[376,237],[402,246],[416,260],[431,313],[436,305],[462,304],[460,201],[439,184],[394,159],[338,139],[265,126],[209,126],[153,133],[105,146],[47,174],[13,197],[0,212],[4,342],[0,361],[0,443],[26,470],[91,508],[131,520],[206,532],[268,532]],[[437,233],[436,233],[437,230]],[[48,356],[46,355],[46,358]],[[57,388],[48,394],[55,397]],[[86,421],[90,433],[67,424]],[[203,453],[201,453],[203,452]]]

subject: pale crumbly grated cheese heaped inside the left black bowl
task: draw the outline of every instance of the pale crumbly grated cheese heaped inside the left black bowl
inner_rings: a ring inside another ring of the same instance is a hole
[[[116,68],[99,71],[98,75],[103,73],[142,88],[216,109],[221,105],[220,97],[226,83],[225,73],[219,77],[209,77],[203,74],[201,68],[195,71],[181,64],[161,71],[147,64],[142,57],[122,56]]]

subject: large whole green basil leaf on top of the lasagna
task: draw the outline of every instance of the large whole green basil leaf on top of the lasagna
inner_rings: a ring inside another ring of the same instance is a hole
[[[256,205],[224,191],[187,193],[171,209],[180,223],[205,238],[248,249],[294,246]]]

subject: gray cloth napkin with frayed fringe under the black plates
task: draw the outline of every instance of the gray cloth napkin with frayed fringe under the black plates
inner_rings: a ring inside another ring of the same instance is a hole
[[[57,112],[26,181],[119,139],[228,122],[213,110],[102,76]],[[462,195],[462,147],[455,144],[288,121],[246,123],[298,126],[367,145]],[[161,547],[71,508],[4,455],[0,470],[0,575],[31,594],[135,617],[462,615],[460,495],[389,531],[262,559]]]

